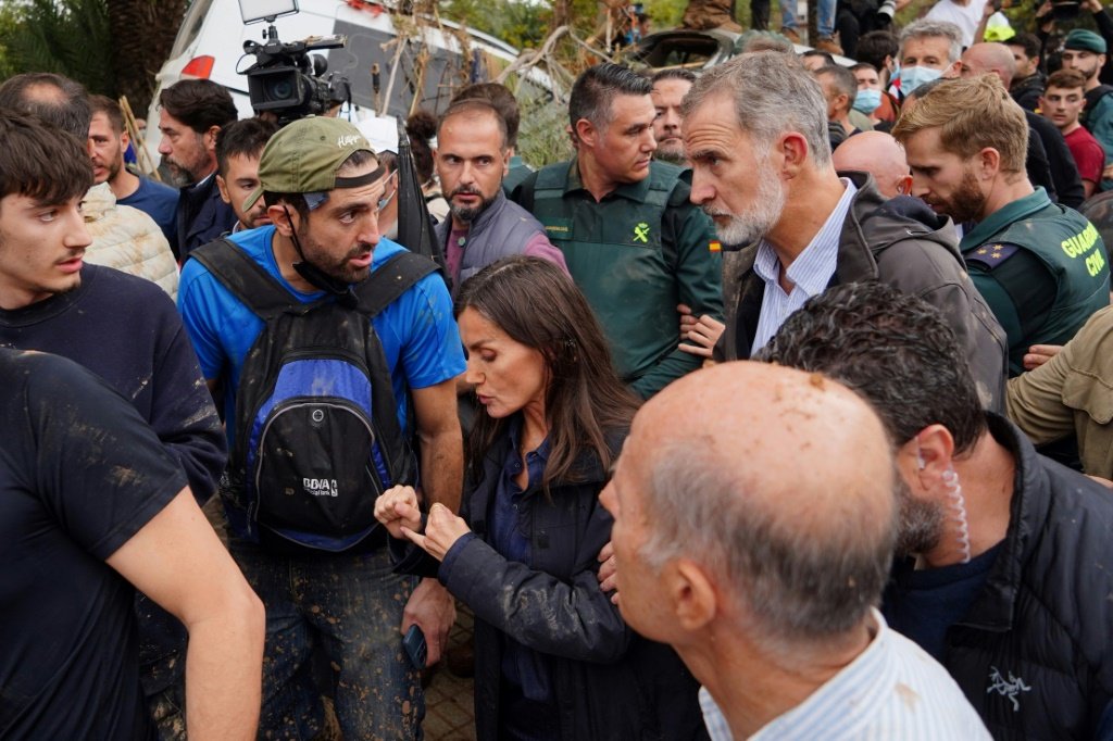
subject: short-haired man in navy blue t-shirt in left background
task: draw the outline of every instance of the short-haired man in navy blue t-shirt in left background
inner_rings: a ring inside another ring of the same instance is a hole
[[[178,191],[170,186],[135,175],[124,165],[124,150],[130,137],[124,130],[124,111],[106,96],[89,96],[92,121],[89,124],[89,155],[92,158],[92,181],[108,182],[121,206],[138,208],[162,230],[174,244]]]

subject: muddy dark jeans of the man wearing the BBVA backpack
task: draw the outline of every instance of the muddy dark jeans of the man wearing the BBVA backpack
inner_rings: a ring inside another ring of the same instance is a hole
[[[321,731],[315,645],[333,668],[345,741],[421,738],[425,699],[398,631],[414,579],[392,573],[387,549],[292,557],[232,539],[229,550],[267,610],[259,738]]]

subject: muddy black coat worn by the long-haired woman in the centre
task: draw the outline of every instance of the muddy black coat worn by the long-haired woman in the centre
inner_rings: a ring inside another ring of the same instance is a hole
[[[476,738],[500,738],[509,635],[534,650],[531,659],[550,678],[562,741],[707,739],[696,680],[670,648],[634,633],[599,587],[597,559],[613,520],[599,503],[608,476],[594,456],[579,462],[581,481],[556,484],[549,496],[540,490],[523,496],[519,527],[530,540],[530,563],[508,561],[489,545],[510,444],[506,436],[493,446],[477,485],[464,495],[461,516],[475,537],[453,546],[461,551],[451,569],[437,573],[475,613]]]

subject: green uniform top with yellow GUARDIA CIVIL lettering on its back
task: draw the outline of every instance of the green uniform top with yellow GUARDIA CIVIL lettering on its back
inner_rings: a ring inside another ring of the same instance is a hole
[[[1052,204],[1043,188],[1008,204],[963,236],[974,285],[1008,336],[1012,375],[1037,344],[1065,345],[1110,303],[1110,269],[1097,229]],[[1023,268],[1023,269],[1021,269]]]

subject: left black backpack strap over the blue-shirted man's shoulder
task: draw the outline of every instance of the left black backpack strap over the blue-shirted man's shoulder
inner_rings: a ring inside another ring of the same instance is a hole
[[[260,319],[273,319],[287,312],[305,314],[316,306],[316,302],[303,304],[296,300],[266,268],[228,239],[197,247],[189,253],[189,259],[208,268],[213,277]]]

